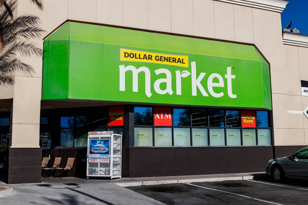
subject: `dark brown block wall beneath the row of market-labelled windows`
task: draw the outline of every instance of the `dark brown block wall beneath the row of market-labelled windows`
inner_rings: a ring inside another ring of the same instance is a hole
[[[258,172],[272,158],[271,146],[129,148],[129,177]]]

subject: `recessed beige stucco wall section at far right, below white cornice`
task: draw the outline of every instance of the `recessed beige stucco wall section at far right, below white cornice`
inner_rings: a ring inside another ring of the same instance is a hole
[[[307,37],[308,38],[308,37]],[[308,144],[308,119],[303,111],[308,106],[308,97],[302,96],[300,80],[308,80],[308,48],[294,45],[283,45],[284,73],[286,84],[287,127],[285,137],[275,136],[275,144],[306,145]],[[282,131],[283,132],[283,131]]]

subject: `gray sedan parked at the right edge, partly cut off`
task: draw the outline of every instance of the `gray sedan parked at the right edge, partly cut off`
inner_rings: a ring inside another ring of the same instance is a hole
[[[282,181],[285,177],[308,179],[308,147],[291,156],[270,160],[265,172],[275,181]]]

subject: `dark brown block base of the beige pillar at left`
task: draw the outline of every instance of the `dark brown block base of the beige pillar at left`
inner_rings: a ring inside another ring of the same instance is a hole
[[[42,148],[7,148],[5,183],[41,183]]]

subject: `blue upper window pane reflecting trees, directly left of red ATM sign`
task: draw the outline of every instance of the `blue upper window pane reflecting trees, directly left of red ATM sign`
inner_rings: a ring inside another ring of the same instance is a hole
[[[152,108],[135,107],[134,123],[135,125],[153,125]]]

